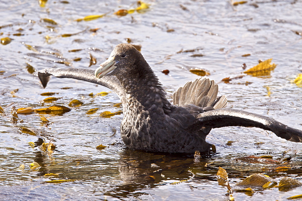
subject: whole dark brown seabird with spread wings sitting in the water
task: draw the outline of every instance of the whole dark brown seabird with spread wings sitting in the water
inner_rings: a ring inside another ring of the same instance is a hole
[[[38,76],[45,87],[50,75],[97,83],[113,90],[122,101],[120,133],[131,149],[170,153],[208,151],[205,138],[212,128],[259,127],[289,141],[302,142],[302,131],[262,115],[227,109],[225,96],[207,78],[196,79],[173,94],[173,104],[140,52],[119,44],[95,72],[86,69],[44,69]]]

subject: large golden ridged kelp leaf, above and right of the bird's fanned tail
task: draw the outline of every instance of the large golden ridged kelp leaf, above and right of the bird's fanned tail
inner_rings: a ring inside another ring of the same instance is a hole
[[[276,68],[276,64],[271,64],[271,59],[265,60],[258,65],[254,66],[253,68],[250,68],[247,71],[244,71],[243,73],[246,73],[248,75],[252,75],[254,77],[258,76],[269,76],[271,74],[271,71],[273,71]]]

